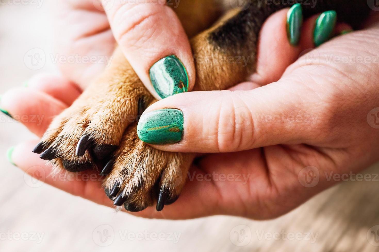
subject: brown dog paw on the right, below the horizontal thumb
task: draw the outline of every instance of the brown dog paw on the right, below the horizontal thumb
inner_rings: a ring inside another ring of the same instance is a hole
[[[105,193],[115,206],[139,212],[156,203],[157,211],[174,203],[183,188],[192,154],[163,152],[140,141],[130,125],[106,164]]]

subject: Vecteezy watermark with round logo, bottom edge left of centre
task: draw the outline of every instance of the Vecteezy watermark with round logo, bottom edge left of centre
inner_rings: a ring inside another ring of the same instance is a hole
[[[109,246],[115,239],[121,241],[171,241],[176,244],[180,240],[180,232],[150,232],[118,230],[114,232],[110,225],[101,225],[92,232],[92,240],[101,247]]]

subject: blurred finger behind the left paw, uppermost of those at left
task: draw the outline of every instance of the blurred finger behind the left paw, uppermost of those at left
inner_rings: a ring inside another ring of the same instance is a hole
[[[71,105],[80,95],[79,88],[62,76],[49,73],[36,74],[26,83],[31,89],[39,90],[42,93],[60,100],[66,105]]]

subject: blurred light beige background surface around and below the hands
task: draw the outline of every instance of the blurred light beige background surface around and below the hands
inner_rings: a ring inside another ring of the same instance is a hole
[[[51,51],[49,4],[17,3],[0,1],[0,93],[35,73],[56,71],[50,60],[38,71],[24,62],[30,49]],[[277,220],[144,220],[33,184],[5,152],[34,136],[0,119],[0,251],[379,251],[378,165],[364,172],[373,181],[340,184]]]

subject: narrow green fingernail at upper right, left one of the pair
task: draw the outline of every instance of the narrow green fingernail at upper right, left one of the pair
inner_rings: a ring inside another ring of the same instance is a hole
[[[303,12],[301,4],[296,3],[287,12],[287,37],[291,45],[298,45],[300,40]]]

